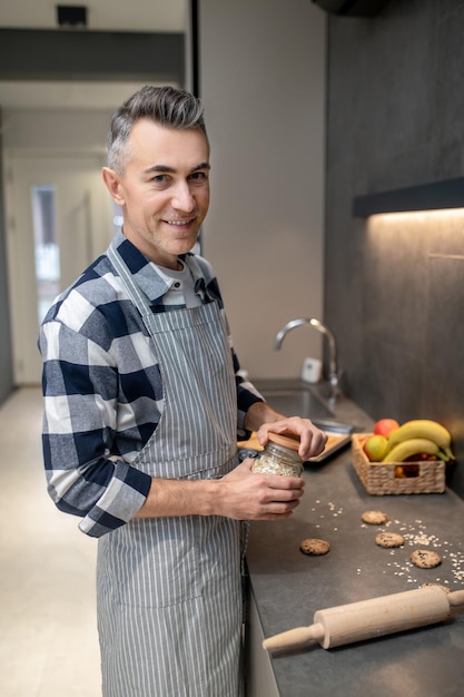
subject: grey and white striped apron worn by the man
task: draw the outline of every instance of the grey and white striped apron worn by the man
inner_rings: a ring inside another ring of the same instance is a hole
[[[108,256],[151,335],[165,410],[131,465],[216,479],[237,464],[236,387],[216,303],[154,314],[120,255]],[[103,697],[240,694],[240,522],[132,519],[98,542]]]

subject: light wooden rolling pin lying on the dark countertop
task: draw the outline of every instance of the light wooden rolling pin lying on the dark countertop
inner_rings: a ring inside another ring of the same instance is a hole
[[[464,590],[448,592],[442,586],[361,600],[317,610],[313,625],[297,627],[263,641],[266,650],[297,647],[315,639],[325,649],[364,641],[396,631],[441,622],[451,608],[464,606]]]

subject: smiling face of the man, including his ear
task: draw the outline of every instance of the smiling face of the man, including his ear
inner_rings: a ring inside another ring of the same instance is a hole
[[[199,128],[165,128],[150,119],[134,126],[122,177],[103,168],[122,207],[124,233],[151,262],[177,268],[209,206],[209,148]]]

